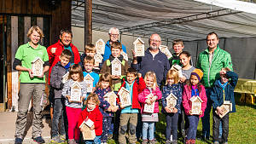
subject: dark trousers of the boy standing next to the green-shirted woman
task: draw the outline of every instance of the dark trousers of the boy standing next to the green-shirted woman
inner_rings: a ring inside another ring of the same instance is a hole
[[[64,118],[66,115],[66,108],[65,108],[65,99],[63,98],[57,98],[54,101],[54,113],[52,118],[52,137],[55,137],[56,135],[59,135],[59,124],[60,124],[60,135],[66,135],[65,130],[65,124],[64,124]],[[66,121],[67,122],[67,121]]]

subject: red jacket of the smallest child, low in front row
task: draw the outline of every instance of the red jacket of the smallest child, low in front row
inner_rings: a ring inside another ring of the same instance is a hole
[[[95,109],[91,112],[87,111],[87,107],[80,113],[78,127],[83,123],[85,118],[90,118],[94,122],[95,133],[97,136],[102,135],[102,112],[99,107],[96,106]]]

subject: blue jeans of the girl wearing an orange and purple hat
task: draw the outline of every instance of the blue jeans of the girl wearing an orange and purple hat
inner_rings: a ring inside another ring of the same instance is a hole
[[[192,116],[188,116],[188,118],[189,118],[189,132],[188,132],[188,135],[187,135],[187,139],[188,140],[195,140],[197,125],[198,125],[198,122],[199,122],[199,116],[192,115]]]

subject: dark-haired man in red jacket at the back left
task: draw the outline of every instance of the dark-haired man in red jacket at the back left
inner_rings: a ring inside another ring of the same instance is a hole
[[[50,73],[52,70],[52,67],[55,66],[55,64],[60,61],[60,55],[62,50],[69,49],[72,53],[72,58],[70,60],[70,64],[75,63],[79,64],[80,62],[80,55],[79,50],[77,47],[73,45],[72,42],[73,33],[70,30],[61,30],[60,34],[60,40],[57,43],[54,43],[53,45],[50,45],[47,48],[47,53],[49,55],[49,77],[48,77],[48,84],[50,82]],[[67,66],[70,66],[70,64],[67,64]],[[49,101],[51,101],[51,98],[53,98],[54,95],[53,92],[49,90]],[[52,104],[52,103],[51,103]],[[52,117],[52,108],[50,109],[50,114]]]

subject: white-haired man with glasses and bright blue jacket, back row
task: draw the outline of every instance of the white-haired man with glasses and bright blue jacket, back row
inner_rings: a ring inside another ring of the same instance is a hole
[[[103,55],[103,61],[108,60],[109,55],[111,55],[111,44],[113,42],[119,42],[119,40],[118,40],[118,38],[119,38],[119,29],[116,28],[116,27],[111,27],[109,29],[108,35],[109,35],[109,40],[105,45],[105,52],[104,52],[104,55]],[[122,44],[122,49],[126,53],[126,47],[125,47],[124,44]]]

